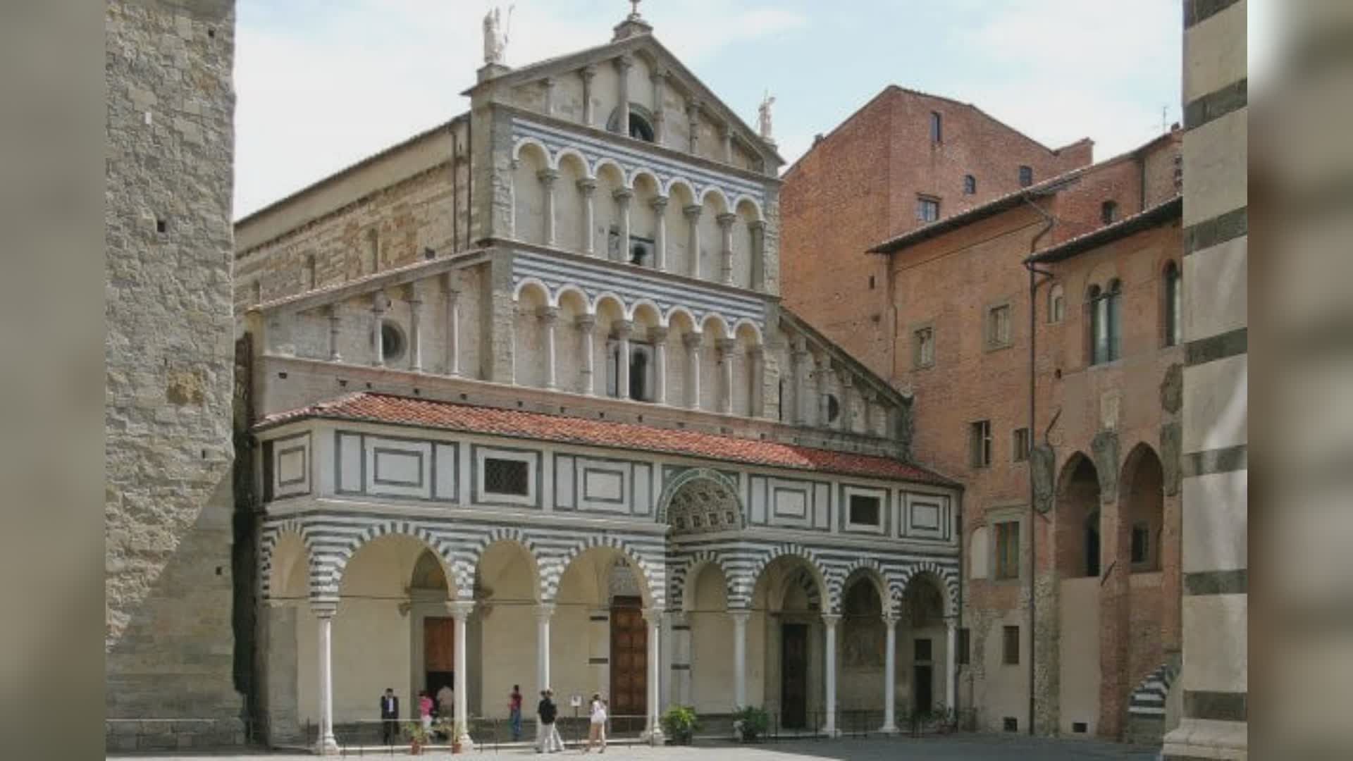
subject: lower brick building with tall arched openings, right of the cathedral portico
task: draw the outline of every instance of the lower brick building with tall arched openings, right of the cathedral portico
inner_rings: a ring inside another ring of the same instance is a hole
[[[1180,642],[1178,152],[1174,130],[871,249],[915,445],[966,486],[958,695],[984,729],[1024,731],[1032,714],[1038,734],[1164,731]],[[1022,263],[1039,271],[1032,432]]]

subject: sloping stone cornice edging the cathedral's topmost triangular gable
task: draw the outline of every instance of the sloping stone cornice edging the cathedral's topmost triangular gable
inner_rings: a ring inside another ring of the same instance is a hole
[[[681,60],[652,34],[635,34],[605,45],[584,47],[574,53],[555,56],[553,58],[545,58],[543,61],[536,61],[534,64],[510,69],[502,74],[475,84],[474,87],[465,89],[461,95],[472,96],[476,92],[491,87],[517,87],[555,72],[580,69],[591,62],[601,62],[614,58],[622,53],[635,53],[640,50],[659,61],[662,66],[670,69],[681,81],[681,87],[690,91],[697,99],[700,99],[705,108],[709,108],[710,111],[717,112],[721,118],[727,119],[735,131],[741,133],[744,142],[763,152],[766,157],[774,158],[779,164],[785,162],[785,158],[781,157],[773,145],[763,141],[760,134],[748,126],[736,110],[731,108],[721,97],[714,95],[712,89],[705,87],[705,83],[702,83],[694,72],[687,69],[686,65],[682,64]]]

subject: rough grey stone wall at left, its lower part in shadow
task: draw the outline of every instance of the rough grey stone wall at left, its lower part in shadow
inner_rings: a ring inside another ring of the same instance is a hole
[[[106,47],[108,746],[241,742],[234,3],[111,0]]]

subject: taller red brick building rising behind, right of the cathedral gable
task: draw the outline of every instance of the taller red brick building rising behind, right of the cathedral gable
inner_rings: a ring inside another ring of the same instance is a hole
[[[894,376],[886,267],[859,252],[1022,181],[1084,167],[1092,149],[1088,138],[1051,149],[969,103],[885,88],[785,172],[785,305],[874,372]]]

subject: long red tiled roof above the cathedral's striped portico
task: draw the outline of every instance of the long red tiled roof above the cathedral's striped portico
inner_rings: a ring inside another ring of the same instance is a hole
[[[498,436],[517,436],[568,444],[624,447],[671,452],[725,462],[741,462],[874,478],[896,478],[955,486],[953,481],[893,458],[835,452],[781,441],[760,441],[698,431],[655,428],[635,422],[584,420],[538,412],[483,408],[361,391],[336,399],[271,414],[256,431],[306,417],[419,425]]]

